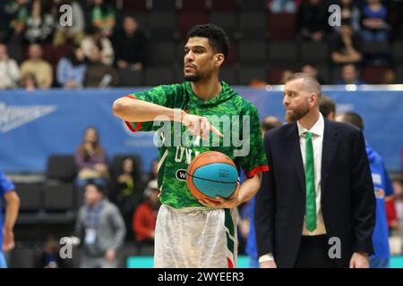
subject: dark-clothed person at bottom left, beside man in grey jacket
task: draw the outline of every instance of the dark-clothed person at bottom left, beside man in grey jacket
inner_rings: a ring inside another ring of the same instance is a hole
[[[59,254],[59,243],[49,236],[40,254],[36,268],[64,268],[64,259]]]

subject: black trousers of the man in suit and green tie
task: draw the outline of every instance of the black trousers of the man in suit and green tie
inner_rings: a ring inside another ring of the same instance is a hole
[[[326,235],[302,236],[294,268],[336,268]]]

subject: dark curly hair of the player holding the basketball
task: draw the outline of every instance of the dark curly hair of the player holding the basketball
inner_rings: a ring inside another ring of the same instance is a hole
[[[186,39],[193,37],[208,38],[210,45],[227,58],[229,54],[229,39],[224,29],[214,24],[195,25],[187,32]]]

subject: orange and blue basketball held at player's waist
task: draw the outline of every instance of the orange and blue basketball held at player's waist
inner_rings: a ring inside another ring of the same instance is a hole
[[[186,172],[186,184],[198,199],[229,198],[236,190],[236,164],[227,155],[207,151],[194,157]]]

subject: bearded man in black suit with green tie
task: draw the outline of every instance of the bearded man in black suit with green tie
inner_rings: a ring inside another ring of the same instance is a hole
[[[368,267],[375,224],[373,181],[360,130],[323,119],[321,86],[288,78],[289,124],[266,133],[269,172],[256,195],[261,267]]]

